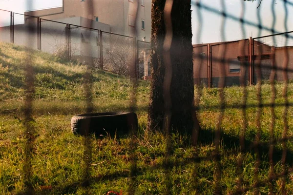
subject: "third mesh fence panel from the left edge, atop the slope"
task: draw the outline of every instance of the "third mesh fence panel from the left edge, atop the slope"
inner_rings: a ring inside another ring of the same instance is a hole
[[[41,50],[67,57],[67,28],[65,23],[41,19]]]

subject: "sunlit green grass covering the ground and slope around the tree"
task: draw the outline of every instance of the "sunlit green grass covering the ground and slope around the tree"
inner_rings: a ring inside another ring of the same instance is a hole
[[[0,43],[0,194],[21,194],[25,191],[23,166],[25,164],[25,124],[23,106],[25,99],[26,49]],[[77,62],[67,62],[52,55],[30,51],[33,57],[35,93],[33,122],[35,130],[32,153],[32,175],[29,183],[36,194],[101,194],[108,191],[126,194],[134,186],[135,194],[207,194],[215,191],[217,163],[211,157],[215,151],[213,139],[220,113],[218,89],[203,88],[200,93],[199,119],[203,131],[198,147],[192,147],[190,137],[173,133],[170,156],[166,156],[167,140],[160,132],[146,128],[149,83],[139,81],[137,88],[137,114],[139,134],[137,137],[104,137],[91,140],[90,174],[88,185],[84,185],[84,137],[74,136],[70,131],[70,119],[84,113],[83,75],[86,67]],[[105,112],[129,110],[132,84],[129,78],[92,70],[92,102],[94,111]],[[272,89],[263,84],[262,101],[270,103]],[[284,103],[283,83],[276,83],[276,103]],[[255,153],[251,144],[257,132],[257,86],[247,87],[246,149],[240,171],[242,187],[253,186]],[[243,101],[243,88],[225,88],[225,111],[221,124],[220,169],[218,184],[223,194],[236,191],[240,157],[239,134],[243,130],[244,117],[241,108],[233,108]],[[293,103],[293,83],[289,84],[287,97]],[[284,129],[284,106],[274,108],[276,120],[274,136],[281,138]],[[293,109],[288,110],[288,136],[292,136]],[[261,163],[258,177],[264,181],[269,177],[269,141],[272,113],[264,107],[261,113]],[[180,130],[179,130],[180,131]],[[134,147],[133,147],[134,146]],[[288,153],[285,168],[293,163],[293,144],[287,142]],[[282,145],[274,147],[274,171],[280,174]],[[198,156],[199,161],[194,158]],[[133,158],[135,159],[133,161]],[[134,162],[136,169],[134,169]],[[136,170],[130,178],[131,170]],[[281,178],[272,181],[273,192],[281,193]],[[286,177],[287,194],[293,194],[293,175]],[[261,194],[269,193],[269,183],[260,186]],[[249,189],[247,194],[252,194]]]

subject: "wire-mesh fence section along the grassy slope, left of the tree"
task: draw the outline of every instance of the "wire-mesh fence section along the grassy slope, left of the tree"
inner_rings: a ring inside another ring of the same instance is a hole
[[[140,78],[150,76],[149,71],[142,71],[144,60],[149,59],[149,42],[7,10],[0,10],[0,13],[3,15],[1,20],[7,23],[7,26],[0,27],[0,40],[3,42],[39,49],[60,58],[78,60],[105,71],[127,76],[130,75],[130,61],[138,58],[136,75]],[[29,27],[32,28],[32,32],[29,31]],[[26,41],[27,37],[30,42]],[[87,47],[90,47],[89,53],[85,52]],[[145,57],[142,56],[144,54]]]

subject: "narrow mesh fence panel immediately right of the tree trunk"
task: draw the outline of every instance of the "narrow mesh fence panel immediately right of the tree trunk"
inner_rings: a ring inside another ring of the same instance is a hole
[[[193,80],[195,84],[209,85],[208,45],[193,47]]]

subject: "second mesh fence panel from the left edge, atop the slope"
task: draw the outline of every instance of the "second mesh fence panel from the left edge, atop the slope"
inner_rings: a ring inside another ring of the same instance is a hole
[[[13,13],[13,29],[15,44],[38,49],[38,18]]]

